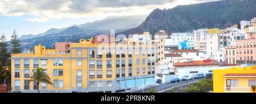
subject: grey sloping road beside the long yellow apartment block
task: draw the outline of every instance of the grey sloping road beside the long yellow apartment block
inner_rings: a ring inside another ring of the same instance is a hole
[[[202,78],[202,79],[204,79],[204,78]],[[157,90],[159,92],[161,90],[166,90],[168,88],[173,88],[175,86],[189,84],[189,83],[194,83],[194,82],[200,81],[202,79],[192,79],[192,80],[187,80],[187,81],[180,81],[180,82],[177,82],[177,85],[175,83],[164,83],[164,84],[159,84],[159,85],[155,85],[155,86],[151,86],[149,88],[143,89],[143,91],[142,91],[142,89],[141,90],[135,90],[132,93],[143,93],[143,92],[146,93],[150,89],[155,89],[155,90]]]

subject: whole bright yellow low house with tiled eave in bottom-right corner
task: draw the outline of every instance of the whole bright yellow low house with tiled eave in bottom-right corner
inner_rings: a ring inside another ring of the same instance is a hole
[[[256,66],[213,70],[214,93],[250,93],[255,86]],[[255,91],[256,92],[256,91]]]

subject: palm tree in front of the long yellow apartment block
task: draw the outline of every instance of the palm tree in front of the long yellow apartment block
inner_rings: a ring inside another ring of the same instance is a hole
[[[30,80],[29,81],[35,81],[36,82],[36,88],[38,88],[39,92],[39,83],[44,82],[46,84],[52,84],[52,82],[49,79],[49,76],[42,70],[42,68],[36,69],[36,72],[33,72],[33,75],[30,73]]]

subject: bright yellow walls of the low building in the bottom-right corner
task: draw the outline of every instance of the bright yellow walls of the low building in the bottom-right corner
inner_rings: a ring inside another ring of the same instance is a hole
[[[225,70],[213,70],[213,92],[223,93],[224,86],[226,85],[226,78],[224,75],[227,73],[256,73],[256,66],[245,67],[243,70],[241,67],[232,67]],[[239,87],[247,87],[249,79],[255,79],[250,77],[228,77],[228,79],[238,79]]]

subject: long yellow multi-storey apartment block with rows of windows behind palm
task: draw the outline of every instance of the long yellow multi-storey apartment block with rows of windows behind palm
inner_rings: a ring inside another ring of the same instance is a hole
[[[41,92],[122,92],[155,84],[154,45],[142,36],[103,35],[61,52],[39,44],[33,53],[12,54],[12,91],[36,92],[36,84],[28,81],[36,68],[43,68],[53,83],[40,83]]]

